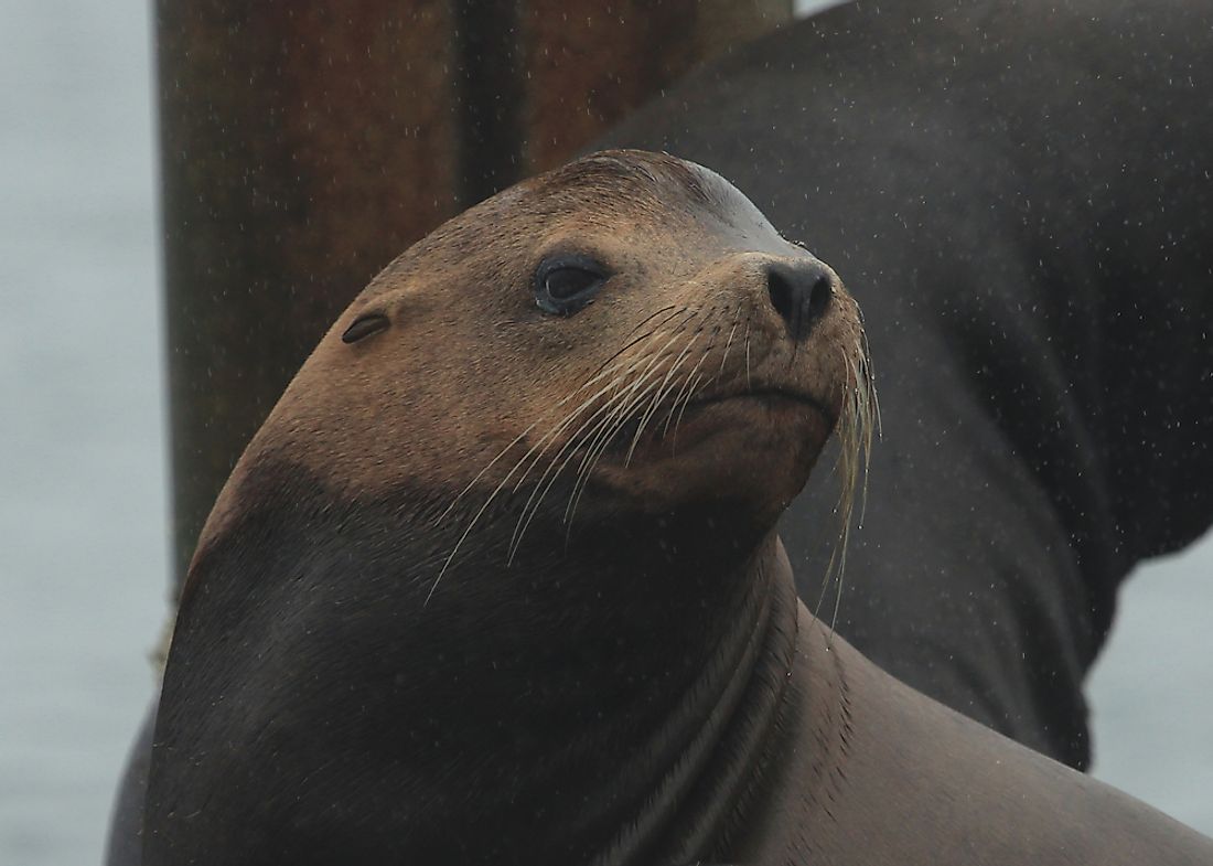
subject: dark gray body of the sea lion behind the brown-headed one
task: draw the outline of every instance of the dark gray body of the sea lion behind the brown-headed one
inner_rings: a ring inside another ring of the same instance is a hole
[[[604,142],[711,165],[843,275],[884,427],[837,628],[1076,768],[1121,581],[1213,523],[1211,93],[1207,2],[861,0]],[[827,491],[781,524],[810,608]]]

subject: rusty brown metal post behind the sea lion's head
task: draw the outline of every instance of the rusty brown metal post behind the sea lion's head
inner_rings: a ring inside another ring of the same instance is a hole
[[[324,329],[444,218],[791,0],[158,0],[173,545]]]

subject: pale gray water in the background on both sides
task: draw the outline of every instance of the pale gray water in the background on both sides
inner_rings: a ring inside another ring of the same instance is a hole
[[[0,866],[97,862],[152,695],[167,520],[147,10],[0,5]],[[1213,832],[1213,543],[1097,670],[1097,774]]]

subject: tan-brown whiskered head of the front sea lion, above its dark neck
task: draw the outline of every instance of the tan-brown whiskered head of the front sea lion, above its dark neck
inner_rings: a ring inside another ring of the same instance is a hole
[[[836,274],[731,184],[604,152],[389,264],[243,462],[300,460],[352,495],[409,489],[475,531],[482,508],[512,507],[509,556],[535,525],[620,514],[694,513],[752,540],[804,485],[865,370]]]

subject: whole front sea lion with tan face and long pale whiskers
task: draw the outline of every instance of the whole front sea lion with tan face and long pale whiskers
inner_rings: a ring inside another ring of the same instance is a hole
[[[835,273],[672,156],[439,228],[206,524],[146,862],[1213,860],[797,600],[775,525],[836,428],[855,465],[869,370]]]

